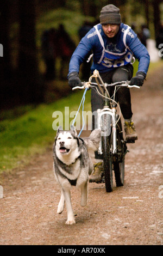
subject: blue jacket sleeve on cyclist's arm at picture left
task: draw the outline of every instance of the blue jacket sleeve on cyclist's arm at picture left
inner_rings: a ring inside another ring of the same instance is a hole
[[[78,47],[76,48],[76,50],[72,54],[70,64],[69,64],[68,75],[71,72],[78,72],[79,73],[80,65],[83,63],[85,57],[87,56],[87,54],[89,54],[89,52],[93,48],[94,38],[92,38],[93,36],[89,36],[89,34],[93,33],[93,31],[95,31],[95,28],[92,28],[90,30],[90,32],[88,32],[84,36],[84,38],[79,42]]]

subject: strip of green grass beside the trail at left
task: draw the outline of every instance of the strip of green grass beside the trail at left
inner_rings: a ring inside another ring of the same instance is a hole
[[[56,131],[52,129],[54,111],[65,112],[65,106],[77,111],[83,91],[49,105],[42,104],[13,120],[0,122],[0,173],[23,166],[34,154],[51,147]],[[85,109],[90,106],[90,91],[86,94]],[[17,110],[18,111],[18,110]],[[66,117],[67,118],[67,117]],[[65,119],[65,117],[64,117]],[[73,118],[70,119],[70,121]]]

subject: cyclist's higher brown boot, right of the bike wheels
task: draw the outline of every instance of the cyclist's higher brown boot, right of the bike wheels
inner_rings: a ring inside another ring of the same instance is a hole
[[[124,131],[126,133],[126,141],[127,142],[135,142],[137,139],[137,134],[135,130],[135,125],[133,121],[125,121],[124,122]]]

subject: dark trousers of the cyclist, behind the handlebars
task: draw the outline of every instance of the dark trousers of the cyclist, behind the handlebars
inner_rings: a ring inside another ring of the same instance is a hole
[[[128,64],[126,66],[121,66],[115,68],[106,73],[100,73],[102,80],[104,83],[115,83],[121,81],[131,80],[133,77],[133,66]],[[92,82],[95,82],[92,80]],[[108,92],[110,96],[114,94],[114,88],[108,87]],[[119,88],[116,93],[116,101],[119,102],[121,112],[124,119],[130,119],[133,115],[131,111],[131,97],[130,97],[130,90],[129,88]],[[91,90],[91,106],[92,106],[92,113],[97,111],[97,109],[103,108],[103,97],[98,95],[96,90]],[[95,119],[92,119],[92,130],[95,129]],[[96,159],[101,159],[101,155],[95,153]]]

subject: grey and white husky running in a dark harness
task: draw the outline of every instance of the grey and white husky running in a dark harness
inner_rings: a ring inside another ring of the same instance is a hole
[[[66,224],[75,224],[71,204],[71,186],[81,188],[81,205],[87,204],[87,191],[89,175],[92,173],[93,164],[88,154],[89,149],[96,151],[101,138],[100,130],[93,130],[89,138],[79,138],[74,126],[70,131],[63,131],[60,126],[53,145],[54,173],[61,186],[61,198],[58,205],[58,214],[64,210],[66,202]]]

